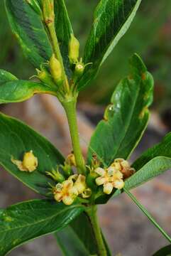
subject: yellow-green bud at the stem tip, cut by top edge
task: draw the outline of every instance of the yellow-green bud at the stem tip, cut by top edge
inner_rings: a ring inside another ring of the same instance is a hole
[[[43,0],[43,18],[47,26],[54,22],[54,0]]]

